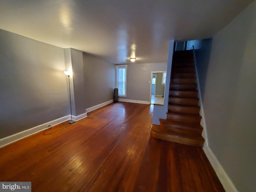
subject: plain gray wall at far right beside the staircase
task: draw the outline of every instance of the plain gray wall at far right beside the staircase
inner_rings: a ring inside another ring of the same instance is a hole
[[[256,191],[256,1],[213,38],[204,91],[208,143],[240,192]]]

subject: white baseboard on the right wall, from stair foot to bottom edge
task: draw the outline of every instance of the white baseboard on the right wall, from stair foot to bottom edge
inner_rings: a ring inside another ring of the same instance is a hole
[[[224,169],[222,168],[220,162],[216,158],[216,156],[213,154],[212,150],[208,146],[203,147],[204,153],[206,154],[208,160],[210,161],[212,168],[216,172],[220,182],[222,183],[222,186],[224,187],[226,192],[238,192]]]

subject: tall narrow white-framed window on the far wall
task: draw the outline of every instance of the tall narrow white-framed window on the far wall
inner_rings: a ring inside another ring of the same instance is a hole
[[[118,96],[126,97],[127,65],[116,65],[116,87]]]

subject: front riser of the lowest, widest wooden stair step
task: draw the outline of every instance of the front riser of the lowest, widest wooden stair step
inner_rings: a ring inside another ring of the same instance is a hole
[[[166,140],[166,141],[171,141],[171,142],[176,142],[176,143],[181,143],[185,145],[191,145],[191,146],[196,146],[196,147],[202,147],[204,145],[204,141],[200,140],[194,140],[190,138],[182,138],[174,135],[168,135],[168,134],[162,134],[159,132],[155,132],[154,130],[150,130],[151,136],[154,138]]]

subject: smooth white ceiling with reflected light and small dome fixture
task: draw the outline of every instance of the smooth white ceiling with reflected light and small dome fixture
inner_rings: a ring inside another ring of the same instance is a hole
[[[169,40],[212,38],[252,0],[0,0],[0,28],[111,63],[166,62]]]

